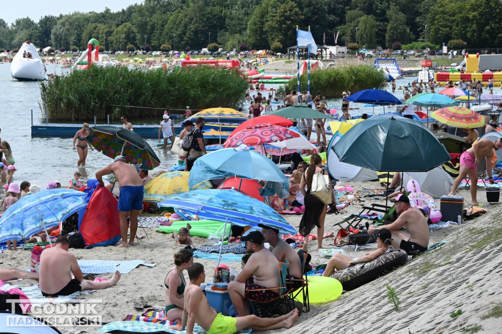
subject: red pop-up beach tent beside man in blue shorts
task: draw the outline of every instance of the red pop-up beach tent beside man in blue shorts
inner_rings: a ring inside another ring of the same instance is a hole
[[[115,245],[121,238],[116,198],[101,187],[96,189],[87,204],[78,229],[85,248]]]

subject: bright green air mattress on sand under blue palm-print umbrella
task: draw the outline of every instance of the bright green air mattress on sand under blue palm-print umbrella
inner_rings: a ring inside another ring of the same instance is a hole
[[[216,220],[177,220],[173,221],[173,224],[171,226],[161,226],[160,228],[157,229],[157,232],[160,233],[173,233],[173,232],[178,232],[180,228],[184,228],[187,225],[187,222],[190,223],[192,228],[190,229],[190,236],[196,236],[196,237],[202,237],[202,238],[209,238],[211,239],[216,238],[220,239],[223,236],[223,228],[225,226],[225,222],[223,221],[216,221]],[[230,223],[227,223],[226,226],[226,232],[225,232],[225,239],[228,239],[228,236],[230,235]]]

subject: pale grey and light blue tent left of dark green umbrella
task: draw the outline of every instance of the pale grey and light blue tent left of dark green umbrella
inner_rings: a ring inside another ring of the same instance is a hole
[[[374,170],[350,165],[345,162],[341,162],[340,159],[338,159],[335,152],[332,150],[332,147],[341,137],[342,135],[339,132],[336,132],[328,145],[326,160],[328,162],[329,175],[335,179],[345,182],[359,182],[378,179]]]

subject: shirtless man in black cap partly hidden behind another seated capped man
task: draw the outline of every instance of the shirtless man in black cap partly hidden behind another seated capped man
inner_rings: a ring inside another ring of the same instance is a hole
[[[279,230],[264,224],[258,224],[258,226],[262,228],[263,238],[266,243],[270,244],[269,250],[274,254],[277,261],[286,262],[288,260],[288,277],[294,280],[301,280],[303,270],[300,257],[287,242],[279,238]],[[293,282],[298,282],[298,287],[301,286],[300,281]]]

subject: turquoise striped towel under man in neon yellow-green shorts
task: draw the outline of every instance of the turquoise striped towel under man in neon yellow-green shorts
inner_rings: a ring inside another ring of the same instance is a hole
[[[171,333],[171,334],[186,334],[186,330],[174,330],[162,323],[152,323],[144,321],[113,321],[105,324],[98,333],[108,333],[112,331],[125,331],[130,333]],[[239,331],[239,334],[249,334],[253,329]],[[205,334],[204,329],[200,326],[194,326],[194,333]]]

